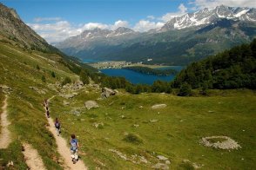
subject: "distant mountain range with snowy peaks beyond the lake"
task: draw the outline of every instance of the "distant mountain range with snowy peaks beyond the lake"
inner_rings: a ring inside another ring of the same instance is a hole
[[[84,30],[56,47],[82,60],[185,65],[255,37],[255,9],[221,5],[174,17],[145,33],[127,28]]]

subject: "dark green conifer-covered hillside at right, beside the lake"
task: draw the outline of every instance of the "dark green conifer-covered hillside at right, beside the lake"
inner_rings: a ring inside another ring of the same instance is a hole
[[[173,86],[192,88],[256,88],[256,39],[201,62],[193,62],[176,77]]]

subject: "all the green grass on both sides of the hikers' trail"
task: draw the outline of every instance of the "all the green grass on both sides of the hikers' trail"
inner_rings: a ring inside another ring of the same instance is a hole
[[[37,55],[52,59],[57,57],[39,52]],[[63,65],[37,55],[0,42],[0,82],[13,88],[8,112],[12,123],[10,130],[15,139],[9,148],[0,150],[0,158],[3,159],[0,165],[12,160],[16,169],[25,169],[21,142],[27,141],[37,149],[47,168],[61,169],[55,161],[58,157],[56,145],[45,127],[47,121],[42,107],[44,98],[56,95],[56,92],[47,88],[41,77],[45,75],[46,82],[57,82],[67,75],[72,79],[77,77]],[[40,70],[36,69],[37,64]],[[51,71],[55,71],[57,78],[51,77]],[[45,88],[47,94],[39,95],[29,86]],[[99,91],[94,88],[86,90],[90,93],[85,93],[85,89],[80,90],[79,95],[71,100],[59,96],[54,98],[51,115],[61,120],[62,135],[67,140],[70,134],[77,134],[81,144],[80,154],[91,169],[145,169],[158,162],[158,154],[168,157],[173,168],[191,166],[182,163],[185,159],[204,165],[206,169],[255,167],[256,108],[253,103],[256,97],[253,91],[213,91],[217,95],[211,97],[122,94],[98,101],[100,108],[87,111],[84,101],[96,100]],[[0,98],[3,101],[3,94]],[[71,105],[64,107],[63,101],[71,101]],[[168,106],[152,110],[151,106],[156,103],[166,103]],[[80,116],[70,114],[72,109],[80,107]],[[154,119],[158,121],[150,122]],[[103,122],[104,127],[93,127],[94,122]],[[139,127],[134,127],[134,124]],[[138,135],[143,143],[124,141],[125,132]],[[239,142],[242,149],[228,152],[199,145],[201,137],[212,135],[230,136]],[[116,149],[129,158],[134,154],[143,155],[152,163],[134,164],[122,160],[109,149]]]

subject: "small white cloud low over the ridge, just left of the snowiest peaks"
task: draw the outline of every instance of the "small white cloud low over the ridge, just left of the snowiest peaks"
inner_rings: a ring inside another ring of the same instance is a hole
[[[138,23],[135,24],[133,29],[144,32],[150,29],[158,29],[164,26],[164,24],[165,23],[161,23],[161,22],[156,23],[156,22],[150,22],[149,20],[140,20]]]

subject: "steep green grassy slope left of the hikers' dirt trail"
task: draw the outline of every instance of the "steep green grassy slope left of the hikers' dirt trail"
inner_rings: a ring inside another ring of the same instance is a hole
[[[0,42],[0,82],[13,89],[8,101],[8,114],[11,122],[10,131],[14,139],[8,149],[0,151],[0,165],[4,166],[12,160],[15,169],[26,169],[21,142],[27,141],[37,149],[47,168],[61,169],[55,161],[58,157],[57,149],[53,136],[46,129],[47,121],[42,107],[44,98],[55,92],[47,88],[41,78],[44,75],[46,82],[56,82],[60,77],[67,75],[76,77],[63,65],[37,55],[45,56],[39,52],[30,54]],[[51,58],[54,55],[46,56]],[[37,64],[40,70],[36,69]],[[51,71],[56,73],[57,78],[51,77]],[[30,86],[45,88],[47,93],[39,95],[30,89]]]

